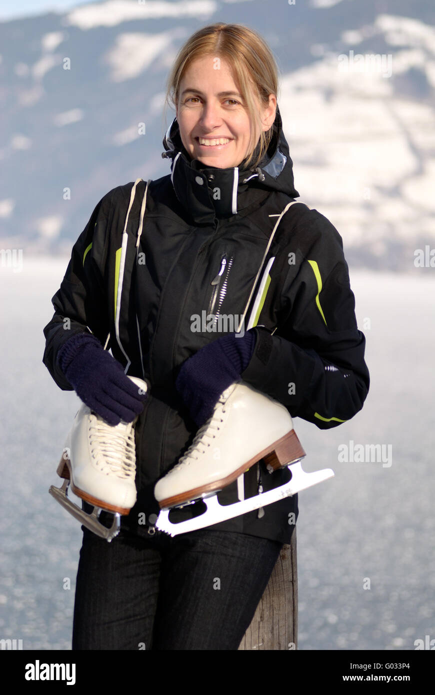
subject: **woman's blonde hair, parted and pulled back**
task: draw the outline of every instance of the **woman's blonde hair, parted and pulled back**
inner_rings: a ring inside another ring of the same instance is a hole
[[[204,56],[225,58],[233,70],[233,78],[245,100],[251,137],[246,159],[246,167],[255,168],[260,163],[272,139],[273,126],[268,131],[261,127],[258,103],[269,105],[269,95],[277,96],[278,67],[272,51],[263,38],[243,24],[216,22],[196,31],[181,47],[167,79],[165,108],[173,108],[179,99],[179,88],[183,75],[193,60]],[[257,103],[254,99],[257,99]],[[254,142],[255,129],[260,138]],[[258,156],[254,152],[258,142]]]

